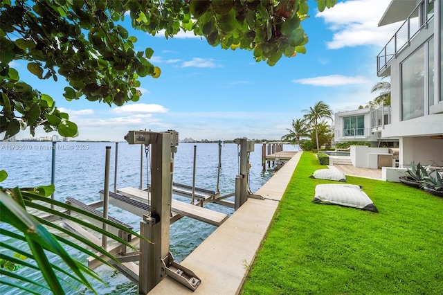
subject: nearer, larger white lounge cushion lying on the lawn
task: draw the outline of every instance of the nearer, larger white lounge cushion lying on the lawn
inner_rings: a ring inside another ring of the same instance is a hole
[[[360,186],[354,184],[318,184],[316,186],[316,195],[312,202],[338,204],[379,212],[368,195],[361,190]]]

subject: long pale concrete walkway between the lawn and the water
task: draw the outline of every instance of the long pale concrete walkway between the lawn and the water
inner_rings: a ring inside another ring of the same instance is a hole
[[[255,195],[181,262],[201,279],[195,292],[164,278],[149,294],[238,294],[302,152],[296,153]]]

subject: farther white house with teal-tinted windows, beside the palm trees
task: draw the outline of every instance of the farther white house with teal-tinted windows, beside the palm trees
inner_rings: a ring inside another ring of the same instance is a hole
[[[369,142],[372,147],[398,146],[398,138],[385,138],[381,130],[390,123],[390,107],[338,111],[334,114],[334,141]]]

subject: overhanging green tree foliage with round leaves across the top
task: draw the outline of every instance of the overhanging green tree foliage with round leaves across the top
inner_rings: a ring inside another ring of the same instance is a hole
[[[0,134],[5,138],[39,125],[46,132],[75,136],[77,125],[57,110],[55,100],[20,80],[12,67],[26,61],[42,80],[66,79],[66,100],[82,97],[108,105],[136,102],[140,78],[158,78],[152,48],[136,51],[137,38],[122,26],[173,37],[180,30],[201,35],[212,46],[253,51],[257,62],[274,65],[282,55],[305,53],[300,26],[307,0],[0,0]],[[318,9],[336,0],[317,0]]]

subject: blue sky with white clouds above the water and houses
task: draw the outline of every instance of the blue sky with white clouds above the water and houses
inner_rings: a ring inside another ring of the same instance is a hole
[[[309,37],[307,53],[282,57],[275,66],[255,62],[252,51],[210,46],[193,33],[165,39],[138,30],[135,50],[154,49],[150,62],[161,76],[141,78],[138,102],[109,107],[85,98],[68,102],[67,83],[38,80],[25,62],[13,62],[21,80],[54,98],[78,125],[73,140],[123,141],[129,130],[174,129],[179,139],[280,139],[294,119],[323,100],[334,112],[357,109],[379,93],[376,57],[401,23],[378,27],[389,0],[338,0],[318,12],[309,0],[310,17],[302,21]],[[129,19],[129,17],[128,17]],[[386,79],[385,79],[386,80]],[[56,134],[51,133],[49,135]],[[38,127],[35,136],[46,136]],[[28,138],[28,130],[16,138]]]

